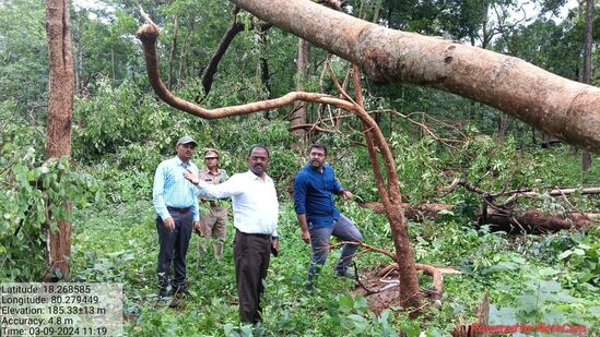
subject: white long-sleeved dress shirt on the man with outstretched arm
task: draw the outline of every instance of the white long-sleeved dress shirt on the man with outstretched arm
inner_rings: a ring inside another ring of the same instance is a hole
[[[234,226],[239,231],[278,237],[278,195],[267,173],[263,180],[248,170],[216,185],[200,180],[197,186],[202,197],[232,198]]]

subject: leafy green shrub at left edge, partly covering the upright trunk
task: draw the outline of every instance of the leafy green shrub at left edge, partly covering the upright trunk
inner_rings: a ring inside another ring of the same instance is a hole
[[[26,281],[45,270],[45,228],[70,219],[64,202],[85,207],[96,184],[67,157],[44,161],[44,137],[10,109],[0,107],[0,280]]]

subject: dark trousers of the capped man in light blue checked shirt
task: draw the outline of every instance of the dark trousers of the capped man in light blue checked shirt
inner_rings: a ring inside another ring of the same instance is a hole
[[[191,229],[193,226],[193,215],[191,208],[186,213],[170,212],[175,220],[175,229],[169,231],[163,224],[161,217],[156,218],[156,229],[158,231],[158,285],[161,294],[166,294],[170,276],[170,263],[173,262],[174,275],[170,279],[172,291],[187,290],[186,286],[186,254],[188,253]]]

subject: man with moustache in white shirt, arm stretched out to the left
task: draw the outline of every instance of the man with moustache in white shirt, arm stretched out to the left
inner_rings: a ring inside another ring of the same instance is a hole
[[[262,321],[260,296],[267,278],[271,250],[279,253],[277,231],[279,203],[273,180],[264,172],[269,167],[269,151],[254,146],[248,155],[249,170],[213,185],[191,171],[184,176],[198,186],[203,197],[231,197],[234,226],[235,279],[239,297],[239,317],[244,323]]]

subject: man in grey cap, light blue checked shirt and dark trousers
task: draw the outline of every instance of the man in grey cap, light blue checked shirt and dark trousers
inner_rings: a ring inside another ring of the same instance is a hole
[[[190,136],[179,139],[175,146],[177,156],[161,163],[154,174],[152,202],[158,214],[156,229],[161,245],[157,267],[160,297],[187,292],[186,254],[192,228],[200,226],[200,215],[196,186],[184,177],[184,172],[189,169],[198,174],[198,167],[190,160],[196,145]],[[169,280],[172,262],[174,275]],[[169,282],[170,292],[167,291]],[[177,305],[174,303],[177,302],[174,301],[172,306]]]

